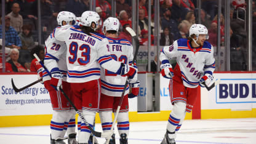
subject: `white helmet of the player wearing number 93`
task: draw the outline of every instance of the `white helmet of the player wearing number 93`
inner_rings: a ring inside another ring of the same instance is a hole
[[[94,30],[96,30],[99,20],[100,20],[100,15],[98,15],[97,12],[88,10],[82,13],[80,24],[83,26],[91,26],[92,23],[95,23],[96,26]]]

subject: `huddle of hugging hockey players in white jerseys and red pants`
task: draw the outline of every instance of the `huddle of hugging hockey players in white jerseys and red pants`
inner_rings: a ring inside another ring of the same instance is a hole
[[[100,114],[103,132],[111,131],[112,113],[116,114],[128,78],[117,122],[120,143],[129,135],[128,97],[138,95],[137,67],[133,65],[133,47],[126,39],[118,38],[119,20],[109,17],[103,23],[105,36],[95,33],[100,16],[86,11],[81,17],[62,11],[57,16],[58,27],[45,41],[45,57],[38,63],[38,76],[49,91],[53,114],[50,121],[50,143],[97,143],[90,129],[60,89],[74,103],[82,116],[94,127],[95,114]],[[60,88],[61,87],[61,88]],[[130,93],[130,94],[129,94]],[[115,143],[114,134],[110,142]],[[77,138],[78,137],[78,138]]]

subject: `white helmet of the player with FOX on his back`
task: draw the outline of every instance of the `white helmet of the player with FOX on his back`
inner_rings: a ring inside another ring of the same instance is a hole
[[[111,31],[111,30],[113,30],[113,31],[118,32],[118,30],[119,30],[119,25],[120,25],[120,23],[119,23],[118,18],[108,17],[108,18],[106,18],[106,20],[103,22],[102,33],[105,34],[104,29],[105,29],[106,31]]]

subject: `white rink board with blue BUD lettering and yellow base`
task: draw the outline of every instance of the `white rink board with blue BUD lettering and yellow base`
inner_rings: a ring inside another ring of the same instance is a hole
[[[201,88],[202,118],[256,117],[256,73],[214,73],[220,84]]]

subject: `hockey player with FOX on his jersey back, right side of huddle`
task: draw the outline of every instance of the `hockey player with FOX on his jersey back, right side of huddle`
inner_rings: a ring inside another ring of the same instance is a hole
[[[118,38],[119,20],[118,18],[108,17],[102,27],[102,32],[108,38],[110,43],[110,54],[111,56],[119,61],[126,64],[131,64],[134,58],[133,47],[126,39]],[[126,77],[118,74],[111,73],[104,68],[101,69],[100,82],[102,83],[102,94],[100,96],[100,120],[102,122],[103,132],[108,132],[112,126],[112,112],[116,114],[119,101],[126,83]],[[131,97],[138,95],[138,89],[140,82],[137,81],[137,74],[133,79],[129,80],[130,86],[132,86],[132,93],[129,94]],[[118,114],[118,132],[120,135],[120,143],[127,143],[127,137],[129,134],[129,103],[128,103],[129,86],[126,87],[124,94],[124,100]],[[110,143],[115,143],[114,135],[112,136]]]

